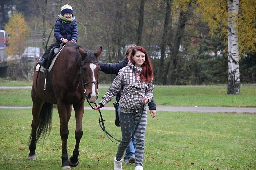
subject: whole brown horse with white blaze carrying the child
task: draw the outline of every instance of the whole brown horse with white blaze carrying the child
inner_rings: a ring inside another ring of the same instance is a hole
[[[34,70],[31,90],[33,119],[29,138],[29,160],[36,160],[36,142],[41,135],[45,138],[47,131],[50,132],[52,105],[57,104],[62,142],[62,169],[70,169],[70,166],[78,165],[78,149],[83,135],[82,117],[85,95],[90,102],[95,102],[98,98],[98,74],[100,71],[98,57],[101,51],[102,47],[93,54],[77,46],[76,43],[68,42],[60,51],[49,73],[51,87],[48,87],[46,91],[43,90],[44,73]],[[68,121],[71,117],[72,105],[76,117],[76,145],[73,156],[68,159]]]

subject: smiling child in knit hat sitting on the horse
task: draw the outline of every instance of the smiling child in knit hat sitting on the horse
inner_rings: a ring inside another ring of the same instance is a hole
[[[61,14],[58,15],[54,27],[56,41],[45,51],[43,56],[37,61],[38,64],[45,66],[51,49],[60,45],[62,42],[77,42],[78,32],[73,9],[68,4],[61,7]]]

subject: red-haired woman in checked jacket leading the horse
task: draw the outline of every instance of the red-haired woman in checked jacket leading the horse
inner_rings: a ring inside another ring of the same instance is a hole
[[[132,49],[129,62],[122,68],[106,94],[94,108],[99,110],[110,102],[120,91],[121,97],[119,123],[122,131],[122,141],[127,141],[132,135],[132,124],[138,123],[140,116],[141,102],[148,103],[153,97],[153,67],[146,50],[141,46],[135,46]],[[151,115],[155,117],[156,115]],[[142,161],[144,155],[144,137],[147,124],[146,105],[140,122],[138,131],[136,131],[136,149],[135,149],[135,170],[143,170]],[[129,142],[118,146],[116,156],[114,157],[114,169],[122,169],[122,157]]]

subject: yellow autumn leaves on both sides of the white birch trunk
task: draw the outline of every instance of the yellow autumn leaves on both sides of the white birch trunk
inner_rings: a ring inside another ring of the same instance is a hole
[[[256,1],[240,0],[238,13],[238,36],[239,53],[247,54],[256,52]],[[196,15],[200,16],[203,22],[209,25],[211,36],[221,38],[227,36],[228,25],[228,3],[227,0],[198,0],[196,1]],[[226,41],[226,39],[223,39]]]

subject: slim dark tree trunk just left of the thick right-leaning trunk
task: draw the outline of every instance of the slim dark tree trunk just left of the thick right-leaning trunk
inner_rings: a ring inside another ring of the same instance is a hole
[[[162,36],[162,42],[161,42],[161,58],[160,58],[160,64],[159,64],[159,70],[158,70],[158,79],[163,79],[163,66],[165,63],[165,51],[166,51],[166,45],[167,45],[167,38],[169,37],[169,22],[171,19],[171,0],[166,0],[166,14],[164,19],[164,31]]]

